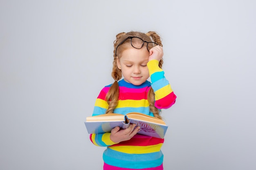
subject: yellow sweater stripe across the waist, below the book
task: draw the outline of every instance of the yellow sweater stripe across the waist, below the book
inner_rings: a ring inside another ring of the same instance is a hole
[[[109,146],[112,150],[118,152],[124,152],[128,154],[144,154],[159,152],[163,144],[151,145],[151,146]]]

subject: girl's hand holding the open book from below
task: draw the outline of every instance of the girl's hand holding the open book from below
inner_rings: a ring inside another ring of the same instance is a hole
[[[130,126],[126,129],[120,130],[120,127],[117,126],[111,130],[110,140],[119,143],[121,141],[130,140],[134,135],[139,132],[140,127],[136,127],[136,124],[130,124]]]

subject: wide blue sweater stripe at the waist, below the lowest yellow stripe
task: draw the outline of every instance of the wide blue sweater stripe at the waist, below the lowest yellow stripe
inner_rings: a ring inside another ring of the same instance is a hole
[[[148,154],[126,154],[107,149],[103,153],[103,160],[111,166],[121,168],[142,169],[160,166],[163,163],[162,152]]]

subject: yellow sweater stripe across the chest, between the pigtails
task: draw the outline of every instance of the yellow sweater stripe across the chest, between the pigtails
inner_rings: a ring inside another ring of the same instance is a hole
[[[117,104],[117,108],[124,108],[124,107],[148,107],[148,100],[141,99],[141,100],[119,100]]]

